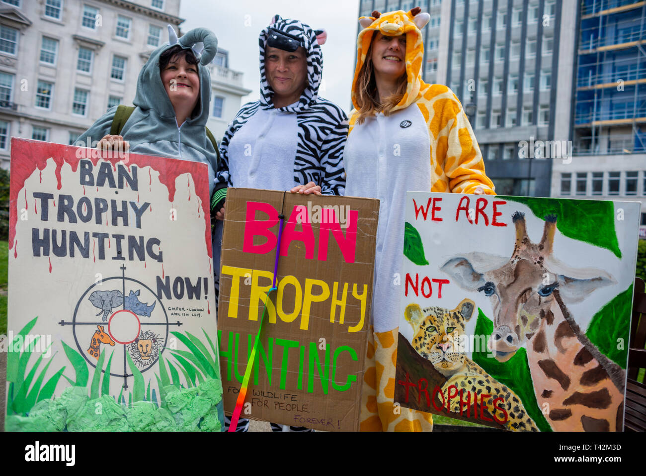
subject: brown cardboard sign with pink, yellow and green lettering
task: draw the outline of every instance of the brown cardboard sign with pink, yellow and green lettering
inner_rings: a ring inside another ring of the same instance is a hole
[[[277,290],[267,299],[281,211]],[[359,429],[378,217],[378,200],[227,191],[218,309],[225,412],[233,412],[267,302],[240,416]]]

